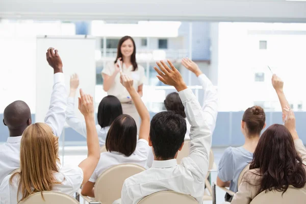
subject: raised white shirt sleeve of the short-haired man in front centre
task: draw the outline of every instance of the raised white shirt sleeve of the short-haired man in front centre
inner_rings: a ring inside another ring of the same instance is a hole
[[[205,111],[202,110],[199,102],[191,89],[185,89],[179,92],[182,103],[185,107],[185,113],[189,123],[190,129],[190,154],[187,158],[183,158],[181,164],[188,168],[188,164],[192,160],[195,164],[190,171],[197,175],[197,179],[204,181],[208,172],[209,152],[211,148],[211,129],[205,118]]]

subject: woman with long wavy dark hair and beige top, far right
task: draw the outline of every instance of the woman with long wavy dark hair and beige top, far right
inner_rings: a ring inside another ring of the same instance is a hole
[[[273,124],[262,134],[250,170],[243,175],[231,202],[234,204],[250,203],[259,193],[271,190],[287,193],[295,204],[306,200],[306,148],[298,138],[295,116],[283,92],[283,81],[273,75],[272,84],[281,102],[285,126]]]

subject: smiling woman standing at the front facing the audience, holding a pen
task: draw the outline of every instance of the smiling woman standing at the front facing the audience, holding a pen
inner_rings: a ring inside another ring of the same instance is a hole
[[[120,83],[118,59],[122,67],[122,72],[134,80],[134,88],[142,96],[142,86],[145,80],[144,68],[137,65],[136,46],[132,37],[124,36],[119,40],[116,60],[106,65],[102,70],[102,77],[104,80],[104,90],[108,95],[114,95],[120,100],[123,114],[130,115],[134,118],[138,132],[140,123],[139,115],[129,92]]]

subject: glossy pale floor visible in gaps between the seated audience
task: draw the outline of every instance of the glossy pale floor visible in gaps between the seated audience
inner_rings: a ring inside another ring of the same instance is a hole
[[[213,148],[213,152],[214,152],[214,158],[215,158],[215,164],[218,166],[218,163],[221,159],[221,156],[224,152],[225,148]],[[79,164],[82,160],[84,160],[86,158],[87,155],[87,150],[86,147],[65,147],[65,151],[64,151],[64,160],[62,157],[62,149],[60,147],[60,159],[61,159],[61,163],[65,166],[75,166],[76,164]],[[215,182],[217,179],[217,172],[213,171],[211,173],[211,181]],[[224,202],[224,191],[222,191],[221,189],[219,189],[218,187],[216,188],[216,197],[217,197],[217,204],[220,204],[222,202]],[[80,199],[81,203],[86,203],[82,200],[82,198]],[[212,201],[203,201],[202,204],[211,204]]]

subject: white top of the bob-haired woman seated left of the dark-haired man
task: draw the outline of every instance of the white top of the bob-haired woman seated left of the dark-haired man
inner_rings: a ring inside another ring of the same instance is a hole
[[[102,152],[98,165],[92,173],[89,181],[95,183],[99,175],[101,175],[105,170],[118,164],[137,164],[144,167],[149,149],[148,141],[139,139],[136,149],[130,157],[126,157],[117,151]]]

